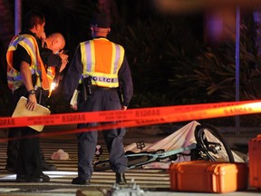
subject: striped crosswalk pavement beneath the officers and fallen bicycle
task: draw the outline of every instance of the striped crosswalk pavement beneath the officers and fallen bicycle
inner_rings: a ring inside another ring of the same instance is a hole
[[[140,189],[140,195],[217,195],[217,193],[202,193],[202,192],[180,192],[171,191],[169,182],[168,170],[144,170],[135,169],[126,172],[128,184],[125,187],[115,189],[114,181],[115,176],[112,171],[94,172],[92,177],[92,185],[90,186],[77,186],[71,184],[73,177],[77,176],[77,142],[74,134],[62,134],[63,131],[74,130],[75,125],[66,126],[50,126],[45,127],[43,132],[60,132],[61,134],[53,135],[52,137],[42,138],[42,148],[47,162],[57,165],[57,171],[44,171],[51,177],[48,183],[17,183],[14,181],[15,174],[5,171],[6,159],[6,142],[0,143],[0,194],[1,195],[123,195],[122,192],[128,192],[130,189],[133,191],[133,181],[135,189]],[[249,139],[256,137],[261,133],[259,128],[244,128],[240,134],[235,133],[233,127],[220,127],[226,136],[227,142],[234,149],[239,152],[247,154],[247,142]],[[148,142],[153,143],[160,141],[168,136],[169,132],[173,131],[173,126],[160,125],[148,126],[140,128],[128,129],[124,145],[131,144],[132,142]],[[1,138],[6,137],[6,130],[0,131]],[[103,143],[102,137],[99,139]],[[53,161],[51,155],[53,152],[63,149],[69,152],[70,159],[67,161]],[[108,156],[108,152],[104,152],[104,156]],[[132,188],[131,188],[132,187]],[[119,191],[120,190],[120,191]],[[126,191],[127,190],[127,191]],[[136,193],[139,191],[136,191]],[[121,193],[121,194],[120,194]],[[141,194],[142,193],[142,194]],[[249,187],[244,191],[234,191],[223,193],[222,195],[260,195],[261,192],[256,188]],[[131,194],[124,194],[131,195]],[[133,193],[134,195],[134,193]],[[137,194],[138,195],[138,194]]]

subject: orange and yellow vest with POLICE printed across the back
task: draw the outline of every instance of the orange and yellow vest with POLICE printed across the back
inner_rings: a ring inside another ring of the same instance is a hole
[[[83,65],[82,78],[90,76],[92,85],[119,87],[118,72],[123,62],[123,47],[106,38],[83,42],[80,47]]]

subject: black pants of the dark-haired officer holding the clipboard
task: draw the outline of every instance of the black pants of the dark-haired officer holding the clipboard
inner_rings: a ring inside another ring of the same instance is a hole
[[[12,94],[12,107],[16,106],[21,96],[26,97],[27,92],[24,87],[20,87]],[[16,165],[18,175],[39,175],[42,173],[40,139],[36,132],[30,127],[17,127],[9,129],[8,137],[22,137],[19,142],[11,140],[7,146],[7,164]],[[33,137],[32,137],[33,136]],[[17,154],[18,152],[18,154]]]

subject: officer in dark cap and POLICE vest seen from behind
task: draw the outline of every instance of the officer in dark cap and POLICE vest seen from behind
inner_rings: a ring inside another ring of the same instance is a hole
[[[72,64],[65,75],[65,99],[69,101],[74,90],[78,89],[78,103],[72,107],[79,112],[126,110],[131,101],[133,85],[124,49],[120,44],[112,43],[106,38],[111,31],[107,15],[95,15],[91,30],[93,39],[78,45]],[[118,94],[120,87],[122,101]],[[93,126],[96,123],[78,124],[78,128]],[[124,184],[127,158],[122,141],[125,129],[105,130],[102,133],[110,152],[111,170],[116,173],[116,182]],[[73,184],[91,183],[97,137],[98,132],[77,133],[78,177],[73,179]]]

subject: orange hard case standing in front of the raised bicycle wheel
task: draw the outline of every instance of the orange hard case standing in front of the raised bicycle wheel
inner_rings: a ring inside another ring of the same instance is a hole
[[[229,192],[247,189],[246,163],[179,162],[169,165],[173,191]]]

